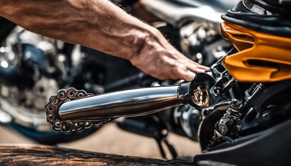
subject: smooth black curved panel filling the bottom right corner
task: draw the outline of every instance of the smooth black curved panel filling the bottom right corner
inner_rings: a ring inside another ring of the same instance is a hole
[[[210,160],[233,165],[277,166],[291,165],[291,120],[233,143],[223,149],[200,153],[194,157],[194,165]]]

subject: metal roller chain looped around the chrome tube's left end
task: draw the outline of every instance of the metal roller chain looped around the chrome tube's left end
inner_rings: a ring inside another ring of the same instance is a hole
[[[104,122],[111,122],[112,120],[105,121],[84,121],[84,122],[69,122],[61,120],[58,116],[58,109],[64,103],[72,100],[78,100],[93,96],[92,93],[86,93],[83,90],[76,90],[69,88],[67,90],[61,89],[57,94],[49,98],[49,102],[45,105],[46,119],[52,125],[55,131],[62,131],[65,134],[70,134],[73,131],[81,132],[85,128],[100,127]]]

